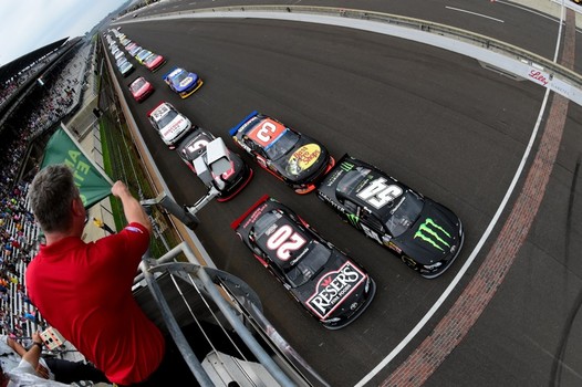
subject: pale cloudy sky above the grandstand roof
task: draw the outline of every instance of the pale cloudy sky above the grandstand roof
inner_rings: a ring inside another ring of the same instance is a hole
[[[83,35],[125,0],[0,0],[0,65]]]

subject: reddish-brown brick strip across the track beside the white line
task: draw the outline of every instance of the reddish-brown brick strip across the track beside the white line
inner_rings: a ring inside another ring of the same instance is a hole
[[[574,50],[575,12],[569,9],[561,59],[562,64],[569,69],[573,69]],[[481,266],[430,335],[381,386],[422,386],[464,339],[496,294],[511,269],[543,199],[560,147],[568,105],[567,98],[553,95],[539,149],[523,188]]]

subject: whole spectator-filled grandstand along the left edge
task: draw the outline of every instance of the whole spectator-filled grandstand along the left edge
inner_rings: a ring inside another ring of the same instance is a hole
[[[55,126],[82,105],[92,50],[81,38],[62,39],[0,67],[1,332],[24,345],[46,327],[24,283],[42,238],[27,202],[28,185]]]

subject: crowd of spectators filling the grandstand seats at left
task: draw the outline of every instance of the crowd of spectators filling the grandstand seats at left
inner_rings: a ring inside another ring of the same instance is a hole
[[[45,322],[30,303],[23,283],[24,271],[38,251],[40,229],[27,202],[29,181],[18,181],[20,165],[30,139],[48,130],[70,114],[82,101],[92,46],[85,44],[69,62],[59,66],[43,85],[40,103],[22,119],[22,128],[0,154],[0,333],[30,344],[32,333]],[[0,91],[0,103],[11,86]],[[6,145],[6,144],[4,144]]]

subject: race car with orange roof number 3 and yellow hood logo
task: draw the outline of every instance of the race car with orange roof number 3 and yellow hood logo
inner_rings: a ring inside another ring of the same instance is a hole
[[[297,194],[314,190],[335,164],[321,143],[257,112],[245,117],[229,134],[235,144],[253,157],[261,168]]]

